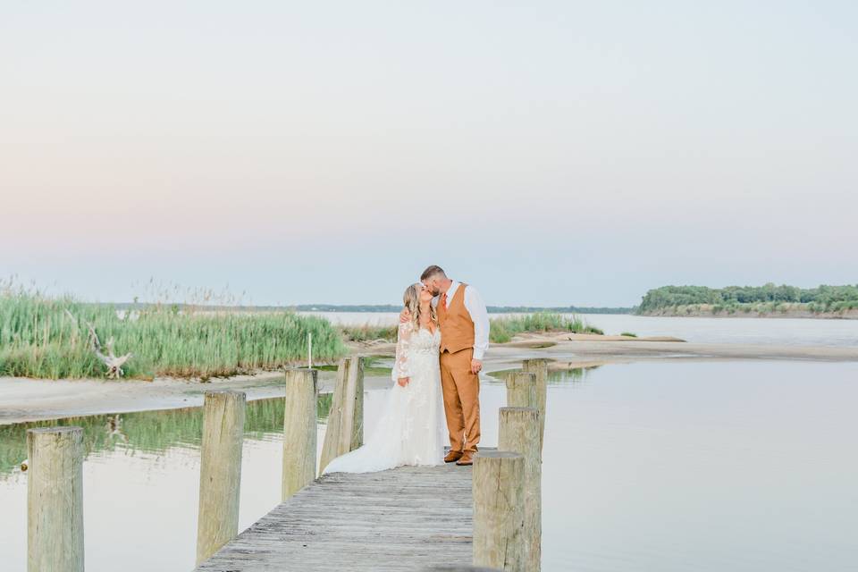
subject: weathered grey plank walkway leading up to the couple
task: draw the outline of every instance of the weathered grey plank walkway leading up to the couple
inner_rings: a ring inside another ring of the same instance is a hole
[[[421,570],[472,559],[471,467],[324,475],[198,570]]]

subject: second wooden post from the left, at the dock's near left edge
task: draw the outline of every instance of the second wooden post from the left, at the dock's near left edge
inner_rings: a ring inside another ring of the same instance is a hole
[[[239,533],[246,401],[241,391],[206,392],[199,467],[198,565]]]

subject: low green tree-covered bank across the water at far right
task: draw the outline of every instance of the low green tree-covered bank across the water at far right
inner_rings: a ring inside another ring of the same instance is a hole
[[[648,291],[641,301],[638,312],[646,314],[657,310],[708,304],[723,311],[725,308],[749,304],[782,303],[807,304],[813,312],[829,312],[858,308],[858,284],[845,286],[821,285],[802,289],[772,282],[763,286],[728,286],[708,288],[706,286],[662,286]]]

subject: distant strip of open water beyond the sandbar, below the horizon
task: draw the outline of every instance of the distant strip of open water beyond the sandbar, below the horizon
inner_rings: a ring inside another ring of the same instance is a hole
[[[395,324],[398,315],[385,312],[307,312],[333,323]],[[501,317],[509,314],[492,314]],[[676,336],[700,343],[761,343],[790,346],[858,346],[858,320],[797,318],[676,318],[649,315],[582,314],[605,333]]]

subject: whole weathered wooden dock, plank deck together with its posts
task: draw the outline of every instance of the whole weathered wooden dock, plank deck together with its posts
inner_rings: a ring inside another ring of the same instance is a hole
[[[349,357],[339,367],[322,467],[363,441],[360,360]],[[481,450],[474,467],[400,467],[318,479],[318,372],[288,370],[283,501],[238,535],[246,398],[206,392],[197,570],[539,572],[540,395],[547,366],[531,361],[523,366],[535,371],[507,381],[509,407],[498,419],[502,450]],[[28,432],[29,570],[84,572],[82,434],[69,427]]]

